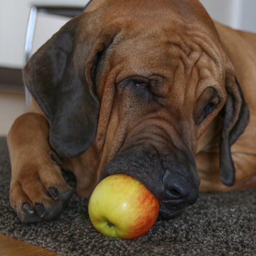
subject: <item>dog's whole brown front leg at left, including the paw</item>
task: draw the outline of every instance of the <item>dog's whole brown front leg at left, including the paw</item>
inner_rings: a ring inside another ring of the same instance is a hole
[[[55,219],[72,195],[60,166],[52,160],[56,154],[48,137],[48,121],[37,113],[18,117],[8,133],[10,202],[24,223]]]

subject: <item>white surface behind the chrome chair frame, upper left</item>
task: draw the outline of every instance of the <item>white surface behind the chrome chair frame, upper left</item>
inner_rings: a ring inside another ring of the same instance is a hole
[[[33,1],[33,0],[32,0]],[[0,0],[0,67],[22,68],[25,64],[25,38],[31,0]],[[34,0],[37,5],[84,7],[89,0]],[[33,52],[57,32],[69,18],[39,13]]]

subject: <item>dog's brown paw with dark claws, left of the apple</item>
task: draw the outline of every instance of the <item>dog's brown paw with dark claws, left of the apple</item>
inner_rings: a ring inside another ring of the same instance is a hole
[[[56,219],[72,194],[60,167],[49,159],[12,170],[10,202],[23,223]]]

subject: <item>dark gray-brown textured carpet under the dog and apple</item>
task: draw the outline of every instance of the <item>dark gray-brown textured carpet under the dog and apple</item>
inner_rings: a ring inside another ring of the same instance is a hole
[[[157,220],[146,235],[125,241],[98,233],[90,223],[87,200],[75,195],[59,220],[21,224],[9,204],[10,172],[6,138],[0,137],[0,232],[60,254],[256,255],[256,189],[202,193],[181,216]]]

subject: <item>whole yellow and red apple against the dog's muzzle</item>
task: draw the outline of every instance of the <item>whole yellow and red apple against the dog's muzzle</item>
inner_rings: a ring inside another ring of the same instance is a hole
[[[126,174],[113,174],[95,187],[88,211],[93,226],[100,233],[134,239],[154,225],[159,201],[138,180]]]

